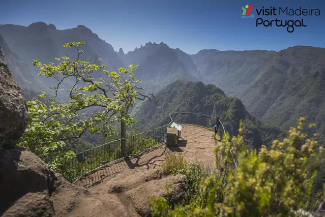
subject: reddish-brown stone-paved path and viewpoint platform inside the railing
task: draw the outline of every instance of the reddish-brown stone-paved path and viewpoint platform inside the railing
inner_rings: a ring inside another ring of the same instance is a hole
[[[211,139],[212,131],[192,125],[185,125],[182,129],[181,139],[176,147],[167,148],[165,145],[154,147],[144,151],[130,160],[124,160],[112,163],[97,172],[84,177],[76,182],[77,185],[84,188],[90,188],[106,179],[114,177],[117,173],[126,169],[135,169],[143,171],[147,169],[159,168],[166,158],[166,154],[183,154],[187,161],[199,160],[205,166],[215,167],[215,155],[213,148],[215,140]],[[219,137],[217,136],[217,139]]]

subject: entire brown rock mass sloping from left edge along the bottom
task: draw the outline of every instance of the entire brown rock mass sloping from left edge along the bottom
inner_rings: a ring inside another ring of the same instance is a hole
[[[117,194],[76,187],[24,149],[0,150],[0,216],[138,216]]]

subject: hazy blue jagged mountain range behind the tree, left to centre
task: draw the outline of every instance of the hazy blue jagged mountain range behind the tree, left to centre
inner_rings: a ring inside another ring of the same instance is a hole
[[[164,87],[175,79],[197,80],[196,67],[190,55],[179,49],[171,49],[166,44],[146,43],[132,52],[125,54],[123,49],[114,51],[112,46],[101,40],[91,29],[78,25],[76,28],[59,30],[53,24],[44,22],[33,23],[29,26],[6,24],[0,26],[0,34],[3,35],[8,47],[27,63],[29,70],[37,74],[39,71],[32,66],[33,59],[39,59],[42,63],[55,61],[55,57],[66,54],[71,59],[76,57],[75,49],[63,48],[62,44],[72,41],[84,41],[82,49],[85,51],[85,59],[95,61],[102,58],[101,64],[105,64],[109,71],[120,67],[128,67],[131,64],[140,65],[136,71],[138,79],[143,80],[145,91],[155,91]],[[55,62],[54,62],[55,63]],[[94,77],[100,77],[96,74]],[[46,86],[57,83],[53,79],[41,76],[41,81]]]

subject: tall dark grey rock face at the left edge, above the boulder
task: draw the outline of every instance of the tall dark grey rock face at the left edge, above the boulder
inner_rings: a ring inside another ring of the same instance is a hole
[[[27,121],[27,105],[20,87],[13,79],[0,47],[0,149],[13,145],[23,134]]]

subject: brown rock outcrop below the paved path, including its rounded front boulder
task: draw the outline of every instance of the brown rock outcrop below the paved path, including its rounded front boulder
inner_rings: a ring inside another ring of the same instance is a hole
[[[131,213],[147,217],[151,216],[152,197],[164,197],[169,205],[185,199],[185,178],[185,175],[165,176],[160,169],[143,171],[127,169],[91,188],[90,192],[117,195],[119,201],[123,201],[128,209],[132,210]]]

